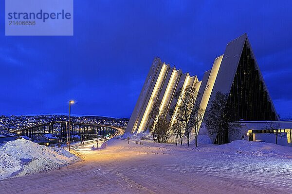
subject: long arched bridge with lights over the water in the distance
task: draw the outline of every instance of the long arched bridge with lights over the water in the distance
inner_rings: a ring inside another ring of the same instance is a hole
[[[61,139],[68,139],[69,135],[69,122],[67,121],[52,121],[36,125],[33,127],[28,127],[20,129],[21,135],[25,135],[31,140],[37,140],[37,137],[43,134],[52,133]],[[74,123],[71,122],[71,135],[86,135],[95,137],[106,137],[107,135],[113,136],[122,134],[125,131],[122,127],[92,124],[92,123]]]

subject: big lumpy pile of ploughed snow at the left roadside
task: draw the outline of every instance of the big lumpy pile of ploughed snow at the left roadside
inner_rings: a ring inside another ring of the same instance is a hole
[[[21,177],[69,165],[80,159],[62,148],[18,139],[0,145],[0,179]]]

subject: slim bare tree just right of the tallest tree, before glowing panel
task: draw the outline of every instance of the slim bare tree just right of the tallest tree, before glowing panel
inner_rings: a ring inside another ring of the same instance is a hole
[[[199,95],[197,95],[197,96],[199,96]],[[195,102],[192,114],[190,115],[190,118],[189,118],[189,126],[192,126],[194,129],[196,147],[198,146],[197,137],[198,137],[201,123],[202,123],[203,118],[204,118],[204,113],[205,113],[205,110],[201,108],[200,103]]]

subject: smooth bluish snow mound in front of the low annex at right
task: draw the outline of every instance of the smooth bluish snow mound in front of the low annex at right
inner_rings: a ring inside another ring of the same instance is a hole
[[[246,140],[236,140],[225,145],[206,145],[194,148],[196,151],[220,152],[227,154],[248,154],[255,156],[275,156],[292,159],[292,147],[279,146],[265,142],[249,142]]]

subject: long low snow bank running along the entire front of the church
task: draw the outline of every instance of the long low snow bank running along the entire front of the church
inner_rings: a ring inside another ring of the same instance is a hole
[[[207,138],[205,138],[207,139]],[[208,139],[207,139],[208,140]],[[206,140],[206,141],[207,141]],[[128,141],[111,139],[108,141],[108,147],[112,149],[123,149],[123,150],[135,150],[139,152],[150,151],[153,153],[164,153],[168,154],[171,151],[189,151],[192,152],[216,152],[220,154],[228,155],[254,155],[254,156],[268,156],[268,157],[277,157],[277,158],[287,158],[292,159],[292,147],[288,146],[279,146],[276,144],[265,143],[265,142],[249,142],[246,140],[237,140],[225,145],[214,145],[214,144],[205,144],[195,147],[195,145],[190,146],[175,146],[171,144],[157,144],[150,141],[138,140],[143,142],[143,146],[130,143]],[[102,145],[101,148],[105,146]]]

